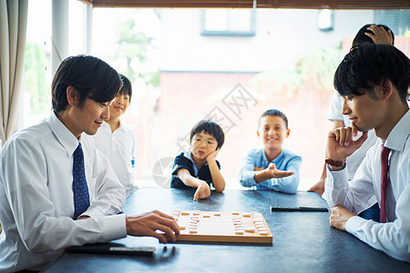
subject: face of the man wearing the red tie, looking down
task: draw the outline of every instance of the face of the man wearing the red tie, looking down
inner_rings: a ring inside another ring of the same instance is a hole
[[[368,131],[383,120],[383,100],[379,99],[381,86],[374,86],[374,94],[365,91],[361,96],[343,96],[343,115],[347,115],[359,131]]]

